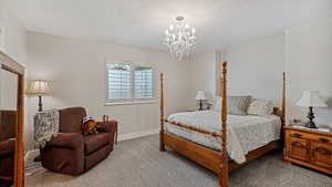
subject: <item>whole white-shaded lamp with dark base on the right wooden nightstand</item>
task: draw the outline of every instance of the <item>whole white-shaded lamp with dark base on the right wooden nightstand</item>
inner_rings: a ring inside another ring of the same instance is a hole
[[[304,91],[302,97],[297,103],[298,106],[307,106],[309,107],[308,118],[309,122],[307,123],[305,127],[308,128],[317,128],[313,118],[314,114],[312,108],[313,107],[328,107],[326,103],[322,101],[319,95],[318,91]]]

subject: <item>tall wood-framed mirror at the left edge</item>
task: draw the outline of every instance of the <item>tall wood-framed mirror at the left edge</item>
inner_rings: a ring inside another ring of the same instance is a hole
[[[24,67],[0,52],[0,187],[24,185]]]

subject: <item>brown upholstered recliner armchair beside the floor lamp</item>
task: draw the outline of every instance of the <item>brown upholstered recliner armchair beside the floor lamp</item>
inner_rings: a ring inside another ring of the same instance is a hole
[[[83,107],[60,110],[60,134],[41,149],[42,166],[49,170],[80,175],[103,159],[113,150],[117,122],[98,122],[102,133],[84,136],[81,131]]]

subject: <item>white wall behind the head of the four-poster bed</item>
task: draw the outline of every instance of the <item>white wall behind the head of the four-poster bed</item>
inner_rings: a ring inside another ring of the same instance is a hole
[[[251,95],[280,104],[284,71],[284,37],[278,35],[228,50],[196,54],[191,62],[191,92],[218,94],[220,62],[228,62],[228,94]],[[261,90],[261,87],[264,87]],[[214,101],[210,97],[210,102]]]

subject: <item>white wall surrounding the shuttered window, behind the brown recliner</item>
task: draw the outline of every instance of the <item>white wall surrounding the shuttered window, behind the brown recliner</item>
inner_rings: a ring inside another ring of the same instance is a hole
[[[44,97],[44,108],[84,106],[87,114],[101,120],[103,114],[120,122],[120,134],[159,127],[158,92],[155,103],[105,106],[105,61],[127,60],[148,64],[165,73],[166,112],[187,108],[188,63],[170,59],[166,52],[72,40],[62,37],[28,33],[28,76],[51,81],[53,95]],[[157,80],[158,82],[158,80]],[[28,149],[32,148],[33,121],[38,101],[27,101],[29,115]]]

